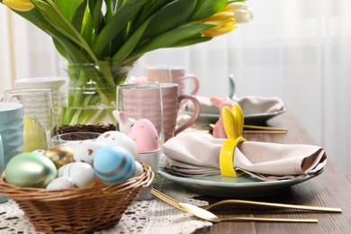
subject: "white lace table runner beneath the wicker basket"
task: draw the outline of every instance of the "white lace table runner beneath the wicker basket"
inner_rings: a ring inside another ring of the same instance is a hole
[[[185,190],[182,186],[157,176],[153,186],[179,202],[204,205],[208,202],[195,200],[198,194]],[[95,232],[108,233],[192,233],[196,229],[211,226],[211,222],[199,220],[193,215],[179,211],[158,200],[134,201],[123,214],[120,222],[111,229]],[[10,200],[0,204],[0,233],[36,234],[30,221],[24,216],[17,204]]]

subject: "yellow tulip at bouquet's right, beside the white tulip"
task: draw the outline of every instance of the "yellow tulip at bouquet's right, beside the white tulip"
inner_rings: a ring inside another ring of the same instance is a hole
[[[231,12],[230,8],[227,7],[225,7],[220,13],[213,14],[210,17],[203,19],[202,23],[216,25],[211,29],[202,31],[203,36],[209,37],[217,37],[237,28],[235,25],[234,14]]]

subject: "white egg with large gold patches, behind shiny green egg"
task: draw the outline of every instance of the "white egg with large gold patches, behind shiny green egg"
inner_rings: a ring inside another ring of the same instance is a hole
[[[45,150],[43,156],[48,157],[57,168],[74,161],[73,148],[61,145]]]

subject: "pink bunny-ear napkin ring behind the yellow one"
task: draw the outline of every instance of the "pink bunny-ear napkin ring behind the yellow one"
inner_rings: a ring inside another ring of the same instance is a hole
[[[213,137],[227,139],[228,137],[227,137],[226,131],[224,130],[223,117],[222,117],[221,110],[222,110],[223,106],[227,106],[231,110],[231,108],[233,107],[233,104],[236,102],[231,100],[229,98],[229,96],[211,97],[210,100],[211,100],[212,104],[214,104],[215,106],[217,106],[220,109],[220,118],[214,124],[213,133],[212,133]]]

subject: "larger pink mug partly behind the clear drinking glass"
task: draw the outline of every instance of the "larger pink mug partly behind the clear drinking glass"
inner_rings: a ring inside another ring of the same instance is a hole
[[[193,115],[176,126],[180,103],[187,100],[193,103]],[[200,108],[199,101],[193,95],[179,94],[179,87],[174,83],[117,86],[117,111],[126,113],[130,118],[130,126],[133,121],[148,119],[155,125],[159,139],[164,142],[193,125],[199,118]],[[126,123],[128,125],[128,121]]]

